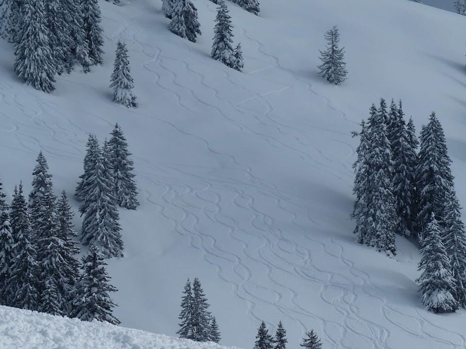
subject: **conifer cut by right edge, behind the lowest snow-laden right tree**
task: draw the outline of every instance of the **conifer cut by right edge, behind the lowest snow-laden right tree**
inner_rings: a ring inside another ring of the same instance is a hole
[[[446,209],[443,244],[449,257],[451,276],[454,279],[453,298],[460,306],[466,306],[466,228],[461,221],[460,204],[451,193]]]

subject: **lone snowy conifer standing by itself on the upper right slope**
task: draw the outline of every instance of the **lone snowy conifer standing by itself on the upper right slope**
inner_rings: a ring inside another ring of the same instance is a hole
[[[346,80],[346,75],[348,72],[345,69],[346,63],[343,61],[345,58],[344,48],[338,48],[340,43],[340,33],[338,28],[334,26],[331,30],[325,33],[325,39],[327,40],[327,49],[325,51],[320,51],[319,59],[322,61],[322,64],[317,67],[320,69],[320,74],[327,81],[340,85],[343,81]]]

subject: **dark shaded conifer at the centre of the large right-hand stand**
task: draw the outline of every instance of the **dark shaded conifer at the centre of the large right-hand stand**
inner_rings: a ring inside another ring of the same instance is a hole
[[[415,217],[417,213],[416,148],[413,148],[411,136],[403,119],[401,101],[391,114],[393,116],[390,139],[394,168],[392,181],[397,214],[395,231],[402,236],[414,238],[416,237]]]

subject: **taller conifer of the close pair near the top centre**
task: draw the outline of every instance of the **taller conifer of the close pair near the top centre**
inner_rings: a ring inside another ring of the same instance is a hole
[[[214,43],[212,44],[212,58],[233,68],[235,58],[232,47],[232,21],[228,16],[227,5],[224,0],[219,0],[217,7],[216,25],[214,28]]]

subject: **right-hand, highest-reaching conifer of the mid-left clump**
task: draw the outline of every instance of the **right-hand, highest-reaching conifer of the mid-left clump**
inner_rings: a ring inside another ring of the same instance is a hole
[[[121,127],[116,123],[108,142],[108,157],[115,178],[116,203],[127,209],[136,209],[139,202],[136,199],[137,189],[134,182],[133,160],[128,151],[128,143]]]

